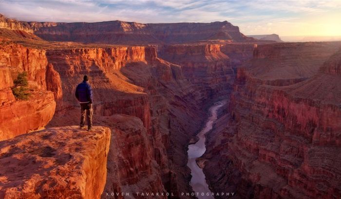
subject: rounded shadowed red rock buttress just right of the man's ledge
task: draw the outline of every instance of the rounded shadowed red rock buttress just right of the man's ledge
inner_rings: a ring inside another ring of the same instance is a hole
[[[121,192],[130,193],[134,198],[146,198],[138,197],[136,192],[166,193],[159,166],[152,157],[150,135],[142,121],[127,115],[113,115],[101,120],[114,129],[102,197],[113,198],[112,193]]]

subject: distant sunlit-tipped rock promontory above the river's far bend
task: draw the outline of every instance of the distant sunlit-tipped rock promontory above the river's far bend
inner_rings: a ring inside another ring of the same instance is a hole
[[[228,94],[234,71],[220,44],[170,45],[159,50],[162,59],[181,66],[184,77],[197,86],[198,102]]]

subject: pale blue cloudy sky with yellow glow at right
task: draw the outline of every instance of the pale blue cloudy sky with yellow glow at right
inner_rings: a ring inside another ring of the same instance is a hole
[[[245,35],[341,36],[341,0],[0,0],[0,13],[54,22],[227,20]]]

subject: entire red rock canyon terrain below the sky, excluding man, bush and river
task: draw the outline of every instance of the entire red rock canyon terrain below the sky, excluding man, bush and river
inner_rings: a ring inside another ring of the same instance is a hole
[[[188,144],[218,100],[228,103],[199,161],[211,191],[235,198],[341,195],[341,42],[253,40],[227,21],[0,16],[0,43],[0,161],[11,165],[0,171],[0,198],[20,192],[17,185],[29,194],[22,198],[41,197],[47,186],[58,187],[56,197],[73,187],[66,197],[191,198],[180,196],[192,192]],[[15,99],[11,90],[22,71],[29,100]],[[103,126],[93,132],[74,126],[80,115],[74,93],[84,75],[94,90],[94,124]],[[11,173],[25,164],[31,169]],[[88,171],[89,178],[77,173]]]

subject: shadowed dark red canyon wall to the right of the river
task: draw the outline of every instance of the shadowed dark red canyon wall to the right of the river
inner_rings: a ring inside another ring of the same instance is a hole
[[[246,68],[238,69],[230,104],[209,135],[204,172],[212,191],[235,191],[237,198],[341,195],[340,46],[255,49]],[[292,59],[283,62],[284,55]],[[263,59],[271,62],[261,65]],[[282,68],[287,73],[277,72]]]

